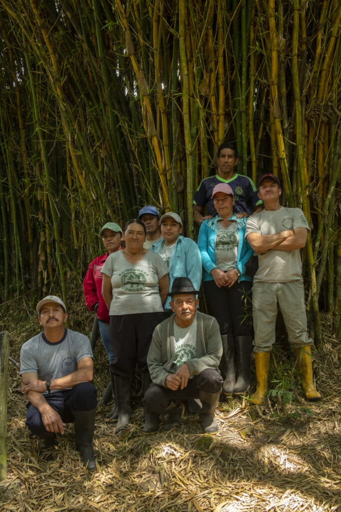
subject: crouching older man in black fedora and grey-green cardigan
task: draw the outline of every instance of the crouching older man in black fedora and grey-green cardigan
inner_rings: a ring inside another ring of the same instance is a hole
[[[214,412],[223,382],[218,370],[221,336],[216,319],[197,311],[197,294],[190,279],[175,278],[169,293],[174,314],[154,330],[147,356],[152,383],[145,394],[146,433],[159,429],[161,413],[169,414],[165,430],[178,425],[182,401],[191,398],[202,403],[202,431],[218,432]]]

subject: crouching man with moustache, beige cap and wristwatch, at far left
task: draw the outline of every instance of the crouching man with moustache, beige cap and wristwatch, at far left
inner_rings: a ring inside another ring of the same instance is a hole
[[[38,302],[43,331],[20,351],[22,393],[29,403],[26,425],[42,439],[41,450],[53,446],[64,423],[75,422],[76,448],[89,471],[96,470],[93,436],[97,392],[92,384],[94,364],[89,339],[64,327],[66,308],[49,295]]]

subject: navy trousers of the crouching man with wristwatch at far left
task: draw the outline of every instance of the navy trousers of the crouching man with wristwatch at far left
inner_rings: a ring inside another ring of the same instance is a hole
[[[73,411],[92,411],[97,406],[97,391],[91,382],[81,382],[70,390],[56,391],[44,395],[44,398],[64,423],[75,421]],[[42,439],[54,435],[45,429],[40,412],[30,402],[27,404],[26,425],[32,434]]]

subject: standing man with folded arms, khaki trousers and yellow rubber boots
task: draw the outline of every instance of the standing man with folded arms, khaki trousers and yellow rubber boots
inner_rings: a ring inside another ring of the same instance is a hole
[[[245,238],[259,255],[259,268],[252,288],[254,352],[257,389],[251,402],[263,403],[268,386],[270,351],[275,343],[277,304],[288,332],[290,344],[301,371],[307,400],[319,400],[312,378],[312,339],[307,333],[300,249],[307,241],[308,222],[300,208],[280,205],[279,179],[264,174],[259,180],[259,198],[264,210],[248,218]]]

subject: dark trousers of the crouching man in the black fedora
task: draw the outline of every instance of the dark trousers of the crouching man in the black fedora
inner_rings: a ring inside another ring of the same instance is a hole
[[[145,393],[145,406],[148,411],[162,413],[170,400],[186,400],[199,398],[199,392],[218,393],[221,391],[223,380],[219,370],[207,368],[199,375],[188,380],[186,388],[173,391],[163,386],[151,384]]]

